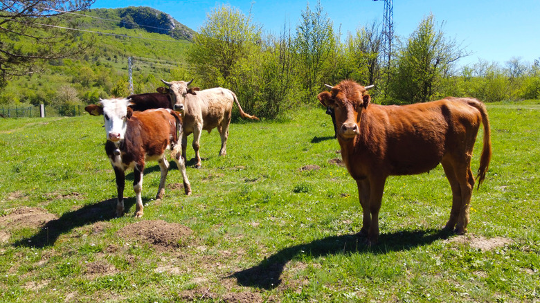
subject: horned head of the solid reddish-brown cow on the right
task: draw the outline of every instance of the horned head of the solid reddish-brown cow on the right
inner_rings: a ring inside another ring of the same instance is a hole
[[[371,101],[368,89],[373,86],[361,86],[351,80],[344,80],[336,86],[325,85],[330,91],[319,93],[317,99],[325,107],[334,109],[338,136],[350,140],[359,135],[358,122],[362,110]]]

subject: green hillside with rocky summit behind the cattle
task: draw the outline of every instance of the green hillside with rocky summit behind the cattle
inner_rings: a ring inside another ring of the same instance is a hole
[[[145,7],[84,12],[77,26],[91,48],[77,57],[46,62],[39,74],[12,80],[0,91],[0,104],[82,105],[125,96],[128,57],[134,58],[134,93],[155,91],[185,64],[195,31],[170,15]]]

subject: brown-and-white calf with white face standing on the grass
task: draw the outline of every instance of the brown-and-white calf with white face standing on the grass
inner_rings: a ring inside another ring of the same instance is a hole
[[[133,190],[136,194],[136,217],[143,216],[143,170],[145,161],[157,160],[161,169],[161,179],[156,199],[165,194],[169,162],[165,151],[172,149],[171,156],[181,171],[186,194],[191,194],[191,186],[186,176],[186,166],[180,156],[178,133],[181,132],[181,118],[172,109],[152,109],[134,112],[128,107],[129,100],[100,100],[84,109],[93,116],[105,116],[107,143],[105,152],[116,175],[118,202],[116,215],[124,213],[125,170],[134,170]]]

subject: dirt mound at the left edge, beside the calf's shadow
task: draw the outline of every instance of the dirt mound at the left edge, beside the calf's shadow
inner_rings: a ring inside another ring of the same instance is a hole
[[[14,228],[39,228],[48,221],[56,220],[55,214],[50,214],[43,208],[17,208],[0,217],[0,227]]]

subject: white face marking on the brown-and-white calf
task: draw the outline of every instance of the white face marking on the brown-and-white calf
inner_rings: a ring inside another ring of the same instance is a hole
[[[118,142],[124,139],[127,120],[127,99],[101,100],[105,119],[107,140]]]

